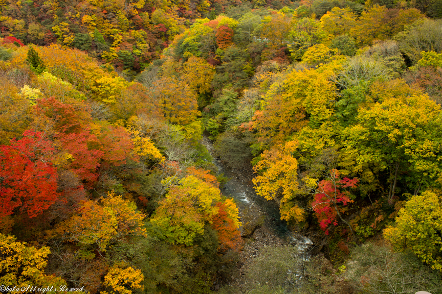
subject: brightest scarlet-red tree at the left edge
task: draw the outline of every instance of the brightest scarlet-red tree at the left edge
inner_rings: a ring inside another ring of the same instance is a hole
[[[0,146],[0,213],[15,208],[29,217],[48,209],[57,199],[57,173],[51,158],[52,143],[40,132],[25,131],[20,140]]]

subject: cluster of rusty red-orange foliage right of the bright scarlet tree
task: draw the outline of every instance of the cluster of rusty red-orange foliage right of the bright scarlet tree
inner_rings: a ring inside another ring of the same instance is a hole
[[[73,157],[70,168],[88,183],[97,181],[102,161],[119,166],[127,158],[137,160],[131,155],[130,136],[122,127],[105,125],[93,131],[90,115],[54,97],[38,100],[36,112],[52,120],[55,139]]]

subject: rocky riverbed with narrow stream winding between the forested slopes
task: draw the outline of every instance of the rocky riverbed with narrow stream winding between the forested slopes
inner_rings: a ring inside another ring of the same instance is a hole
[[[245,273],[253,260],[263,254],[264,248],[293,246],[298,249],[300,259],[307,258],[312,242],[306,237],[296,236],[290,232],[286,223],[280,220],[277,204],[255,193],[251,165],[245,163],[242,168],[231,168],[217,156],[209,138],[204,137],[202,143],[214,158],[218,173],[229,178],[222,192],[227,197],[235,199],[242,223],[240,230],[245,246],[240,252],[238,270],[232,273],[229,284],[236,288],[247,287]],[[218,285],[215,289],[217,287]]]

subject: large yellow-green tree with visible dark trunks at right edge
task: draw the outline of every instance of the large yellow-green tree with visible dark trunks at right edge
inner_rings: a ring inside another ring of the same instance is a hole
[[[386,90],[378,93],[379,102],[359,110],[358,123],[342,136],[347,157],[354,160],[349,167],[359,174],[366,166],[384,173],[391,203],[397,192],[417,195],[440,178],[442,142],[439,105],[426,95],[407,96],[407,88],[402,94]]]

